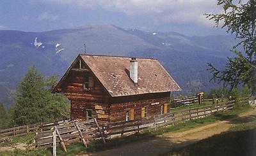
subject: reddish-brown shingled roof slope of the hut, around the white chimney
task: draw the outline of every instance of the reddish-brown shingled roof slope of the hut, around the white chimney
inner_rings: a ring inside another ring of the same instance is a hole
[[[180,91],[179,85],[156,59],[138,58],[138,85],[129,77],[131,57],[80,54],[112,97]]]

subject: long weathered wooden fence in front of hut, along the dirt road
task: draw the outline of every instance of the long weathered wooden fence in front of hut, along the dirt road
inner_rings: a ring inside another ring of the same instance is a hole
[[[156,115],[154,117],[138,118],[127,122],[97,124],[97,120],[95,119],[81,122],[67,122],[56,125],[51,130],[38,132],[36,134],[36,145],[51,147],[55,145],[54,141],[56,141],[58,143],[57,145],[65,146],[70,143],[82,141],[83,143],[85,142],[84,146],[87,146],[86,142],[92,139],[102,139],[103,143],[106,143],[105,138],[115,137],[116,135],[122,136],[128,132],[140,132],[143,129],[163,127],[195,118],[206,117],[218,111],[227,111],[234,108],[234,103],[235,101],[228,101]],[[58,129],[58,135],[56,134],[54,136],[56,129]],[[56,138],[56,140],[53,138]],[[64,147],[63,149],[65,150]]]

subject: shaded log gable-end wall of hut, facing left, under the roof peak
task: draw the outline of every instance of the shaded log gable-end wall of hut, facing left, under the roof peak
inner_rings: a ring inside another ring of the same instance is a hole
[[[71,119],[85,119],[85,111],[93,110],[97,120],[109,122],[108,103],[110,96],[97,78],[90,71],[71,71],[69,74],[61,90],[71,102]],[[93,77],[93,87],[90,89],[84,87],[86,76]]]

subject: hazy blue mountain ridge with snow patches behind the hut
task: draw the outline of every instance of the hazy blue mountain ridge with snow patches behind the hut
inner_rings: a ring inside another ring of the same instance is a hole
[[[173,76],[184,93],[210,90],[207,62],[224,67],[232,36],[184,36],[177,32],[125,30],[95,24],[46,32],[0,31],[0,103],[13,103],[12,92],[35,65],[45,76],[65,73],[79,53],[154,57]]]

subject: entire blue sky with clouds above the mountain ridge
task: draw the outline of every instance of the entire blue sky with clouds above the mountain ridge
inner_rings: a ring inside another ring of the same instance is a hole
[[[204,13],[220,13],[217,0],[1,0],[0,30],[50,31],[104,23],[142,31],[225,34]]]

